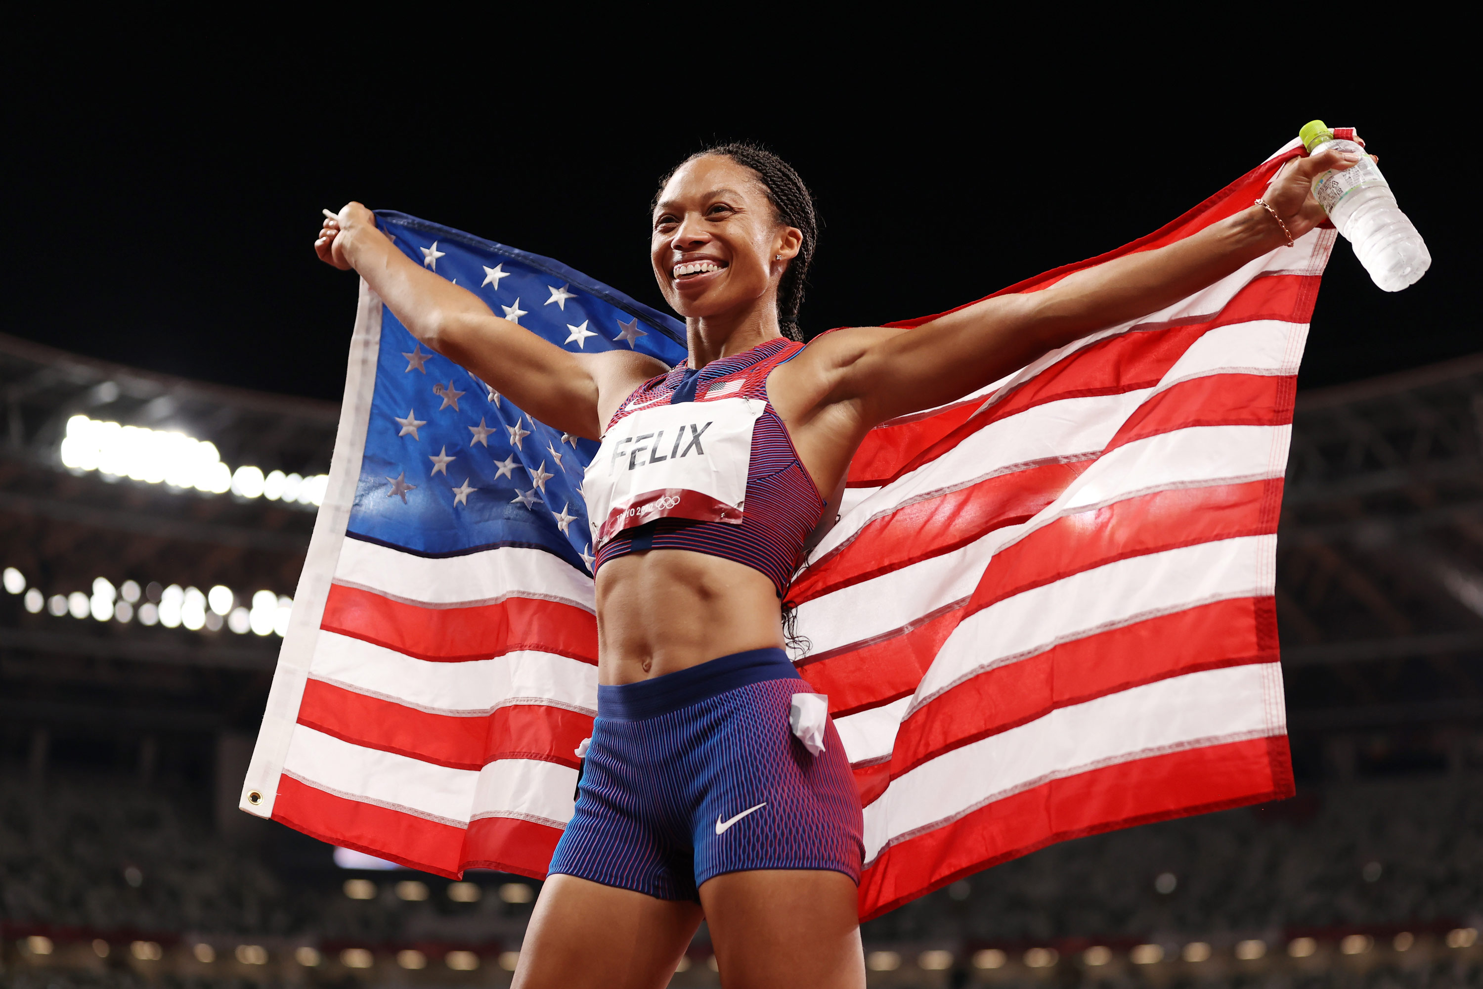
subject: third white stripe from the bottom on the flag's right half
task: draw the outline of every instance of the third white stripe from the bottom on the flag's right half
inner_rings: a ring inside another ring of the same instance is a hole
[[[900,629],[973,593],[994,553],[1077,507],[1176,485],[1280,474],[1290,431],[1289,426],[1203,426],[1120,446],[1026,523],[799,605],[799,632],[814,652],[825,652]]]

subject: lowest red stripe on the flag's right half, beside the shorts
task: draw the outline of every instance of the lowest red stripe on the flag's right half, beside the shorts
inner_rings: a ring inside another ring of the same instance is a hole
[[[860,876],[860,919],[1057,841],[1293,792],[1286,737],[1173,752],[1051,780],[885,850]]]

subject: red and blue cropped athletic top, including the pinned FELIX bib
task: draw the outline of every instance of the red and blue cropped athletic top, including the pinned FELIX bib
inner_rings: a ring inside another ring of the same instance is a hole
[[[767,399],[767,375],[802,348],[773,340],[629,396],[583,482],[593,572],[627,553],[690,550],[744,563],[783,595],[825,510]]]

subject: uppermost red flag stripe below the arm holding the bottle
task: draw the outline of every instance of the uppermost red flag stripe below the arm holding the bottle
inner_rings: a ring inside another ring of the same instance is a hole
[[[1213,319],[1163,329],[1118,334],[1062,357],[983,415],[967,418],[965,406],[937,417],[885,424],[871,430],[850,461],[850,486],[871,488],[942,457],[968,436],[1028,408],[1093,394],[1121,394],[1157,386],[1189,345],[1210,329],[1259,319],[1308,322],[1317,276],[1272,274],[1246,285]],[[976,406],[974,406],[976,408]],[[971,409],[968,409],[971,412]],[[951,429],[943,429],[949,426]],[[1078,451],[1068,451],[1078,452]]]

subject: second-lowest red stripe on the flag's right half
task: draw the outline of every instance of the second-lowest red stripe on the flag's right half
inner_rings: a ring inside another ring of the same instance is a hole
[[[1051,646],[958,684],[902,722],[885,765],[896,778],[945,752],[1044,718],[1057,707],[1170,676],[1277,658],[1277,612],[1271,598],[1218,601],[1148,618]]]

